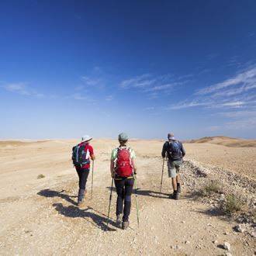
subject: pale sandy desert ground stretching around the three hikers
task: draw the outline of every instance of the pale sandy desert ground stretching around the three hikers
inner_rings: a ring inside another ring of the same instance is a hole
[[[255,147],[227,147],[213,143],[185,144],[182,195],[168,198],[171,181],[164,167],[161,181],[160,140],[134,140],[137,153],[140,227],[133,195],[130,228],[115,226],[113,194],[109,229],[109,157],[115,140],[92,140],[95,147],[93,197],[91,178],[85,207],[76,206],[78,177],[71,163],[76,140],[3,141],[0,143],[0,254],[143,254],[220,255],[227,241],[230,254],[252,255],[254,230],[234,231],[237,222],[213,214],[215,202],[191,195],[203,182],[220,179],[250,200],[255,195]],[[201,170],[202,169],[202,170]],[[202,175],[202,173],[204,175]],[[45,178],[38,178],[44,175]]]

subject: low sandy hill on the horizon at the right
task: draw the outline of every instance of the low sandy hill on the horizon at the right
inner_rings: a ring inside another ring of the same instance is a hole
[[[231,138],[225,136],[217,137],[202,137],[196,140],[189,140],[186,143],[195,143],[195,144],[218,144],[227,147],[256,147],[256,140],[244,140],[240,138]]]

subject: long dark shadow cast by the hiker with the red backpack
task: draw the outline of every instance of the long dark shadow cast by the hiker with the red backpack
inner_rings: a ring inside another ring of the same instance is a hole
[[[101,230],[105,231],[116,231],[108,227],[108,218],[104,216],[100,216],[99,214],[92,213],[94,209],[88,207],[87,209],[80,209],[75,206],[63,206],[62,203],[54,203],[53,206],[57,210],[58,213],[70,218],[84,218],[88,222],[92,223],[95,227],[99,227]],[[91,219],[92,221],[88,220]],[[116,227],[116,223],[109,219],[109,224]]]

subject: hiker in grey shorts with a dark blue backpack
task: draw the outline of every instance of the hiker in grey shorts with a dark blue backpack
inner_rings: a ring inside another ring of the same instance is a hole
[[[163,158],[166,157],[166,153],[168,157],[168,176],[171,178],[172,188],[174,190],[170,198],[178,200],[178,193],[182,191],[179,171],[182,166],[183,157],[185,156],[185,149],[182,143],[175,139],[173,133],[168,133],[168,141],[164,143],[162,150]]]

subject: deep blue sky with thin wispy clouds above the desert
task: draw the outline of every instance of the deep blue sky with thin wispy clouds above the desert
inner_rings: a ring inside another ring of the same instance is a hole
[[[256,2],[1,1],[0,138],[256,137]]]

